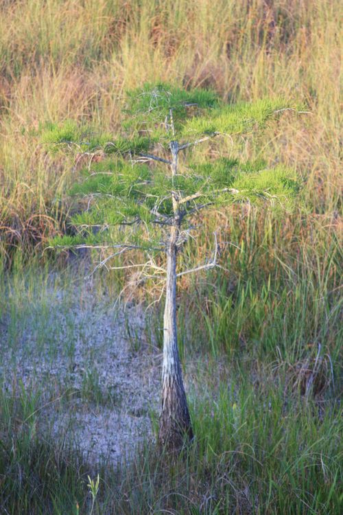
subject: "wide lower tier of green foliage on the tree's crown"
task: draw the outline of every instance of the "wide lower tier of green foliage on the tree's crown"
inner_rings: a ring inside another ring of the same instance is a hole
[[[240,165],[237,159],[218,159],[193,164],[187,174],[179,174],[174,181],[159,167],[130,165],[123,160],[104,161],[95,170],[106,170],[105,163],[111,172],[87,171],[84,181],[71,190],[81,202],[85,196],[87,205],[87,209],[81,208],[71,216],[71,225],[80,232],[55,238],[51,245],[110,245],[128,241],[130,236],[139,246],[148,247],[146,234],[138,227],[155,225],[154,236],[160,238],[161,223],[168,227],[174,216],[172,192],[179,199],[191,197],[181,209],[183,223],[187,223],[187,214],[196,216],[204,204],[221,207],[237,201],[268,201],[274,209],[289,210],[298,191],[294,171],[282,166],[268,170],[261,162]],[[119,225],[137,227],[131,232],[113,230]],[[149,240],[152,242],[151,236]]]

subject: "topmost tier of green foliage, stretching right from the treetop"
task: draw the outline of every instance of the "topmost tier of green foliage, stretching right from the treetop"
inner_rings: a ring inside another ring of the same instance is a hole
[[[185,91],[170,84],[145,84],[128,92],[130,116],[126,127],[150,130],[162,143],[172,139],[169,112],[172,110],[176,137],[189,141],[204,135],[241,134],[262,128],[272,115],[289,104],[284,99],[263,98],[257,102],[224,104],[213,91]],[[161,131],[161,124],[167,133]]]

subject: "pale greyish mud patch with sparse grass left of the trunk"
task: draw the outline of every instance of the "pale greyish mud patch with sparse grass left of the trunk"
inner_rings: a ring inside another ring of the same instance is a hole
[[[1,319],[0,380],[39,396],[36,431],[67,438],[87,459],[130,459],[153,439],[161,352],[145,337],[139,306],[113,302],[87,282],[46,284]],[[134,336],[132,336],[134,335]]]

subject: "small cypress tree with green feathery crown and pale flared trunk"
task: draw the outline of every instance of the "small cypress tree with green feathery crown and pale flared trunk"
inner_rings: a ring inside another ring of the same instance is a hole
[[[89,166],[71,191],[87,198],[82,212],[71,218],[75,236],[54,238],[54,247],[113,249],[98,266],[108,266],[123,252],[141,249],[147,262],[134,265],[149,277],[161,279],[161,268],[152,256],[165,253],[165,311],[163,321],[162,402],[158,440],[179,449],[193,438],[178,354],[176,325],[177,278],[185,273],[220,266],[217,240],[210,262],[178,271],[178,254],[189,236],[190,220],[205,209],[234,202],[292,203],[297,190],[292,170],[263,165],[239,165],[235,160],[180,166],[180,155],[214,137],[259,131],[268,119],[285,109],[283,100],[224,104],[215,93],[201,89],[184,91],[168,84],[145,85],[128,93],[126,135],[110,140],[67,122],[50,125],[44,139],[68,145],[88,155],[99,149],[110,159]],[[85,141],[87,140],[87,141]],[[154,165],[152,165],[154,163]],[[118,230],[115,227],[123,226]],[[158,268],[158,273],[156,269]]]

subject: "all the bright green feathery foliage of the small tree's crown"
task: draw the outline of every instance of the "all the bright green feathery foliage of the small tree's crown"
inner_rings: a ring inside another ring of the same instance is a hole
[[[188,215],[196,216],[204,207],[221,207],[237,201],[268,201],[274,207],[292,208],[298,185],[294,172],[283,166],[269,170],[262,161],[239,163],[237,159],[226,158],[206,163],[193,161],[185,169],[179,167],[173,175],[168,161],[157,164],[155,161],[154,166],[150,166],[124,159],[129,150],[134,155],[146,151],[156,141],[165,144],[181,137],[191,143],[204,135],[241,134],[261,129],[272,115],[287,106],[283,100],[262,99],[224,105],[213,91],[185,91],[170,84],[145,84],[141,89],[129,91],[127,99],[129,137],[119,136],[110,141],[109,135],[98,135],[91,128],[78,127],[71,121],[59,126],[49,124],[45,128],[42,137],[47,143],[75,144],[79,151],[101,148],[117,155],[114,159],[91,165],[90,170],[87,168],[82,173],[80,183],[71,188],[70,194],[78,198],[71,225],[79,234],[57,239],[58,247],[70,247],[72,242],[100,245],[118,239],[119,242],[127,241],[128,234],[140,245],[145,244],[146,235],[141,228],[121,232],[113,228],[117,225],[154,225],[157,229],[154,232],[163,235],[174,220],[173,198],[179,203],[183,225]],[[162,122],[167,128],[163,136]],[[150,137],[141,136],[141,130],[147,133],[147,129]],[[143,243],[139,240],[141,236]]]

